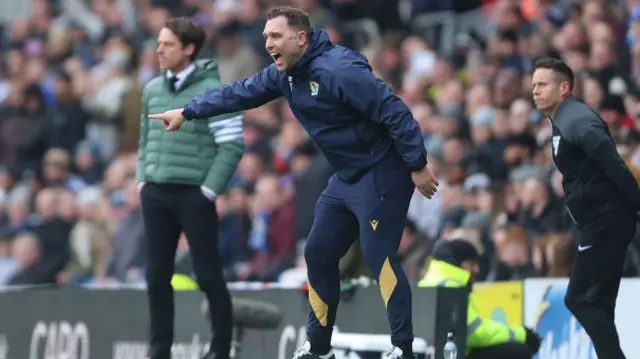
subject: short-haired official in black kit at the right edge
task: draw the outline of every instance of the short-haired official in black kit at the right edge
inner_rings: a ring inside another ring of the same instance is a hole
[[[598,358],[624,359],[614,312],[640,189],[607,125],[571,96],[573,82],[573,71],[560,60],[535,65],[534,101],[551,122],[552,158],[579,229],[565,304],[591,337]]]

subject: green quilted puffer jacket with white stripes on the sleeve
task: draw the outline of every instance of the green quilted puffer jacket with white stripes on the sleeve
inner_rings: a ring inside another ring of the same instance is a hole
[[[150,114],[185,106],[193,97],[221,86],[215,60],[197,60],[176,92],[166,73],[151,80],[142,93],[137,181],[204,185],[222,194],[244,152],[242,115],[230,113],[207,121],[186,121],[179,131],[165,131]]]

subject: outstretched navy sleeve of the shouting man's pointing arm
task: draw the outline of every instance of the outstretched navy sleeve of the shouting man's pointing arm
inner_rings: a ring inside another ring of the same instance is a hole
[[[249,78],[195,97],[184,107],[182,116],[186,120],[209,118],[259,107],[280,96],[278,69],[270,65]]]

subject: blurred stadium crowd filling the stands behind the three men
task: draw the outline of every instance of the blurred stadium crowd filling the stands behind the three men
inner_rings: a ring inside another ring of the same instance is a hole
[[[15,16],[5,15],[0,30],[0,285],[142,282],[135,151],[141,90],[160,72],[156,34],[171,16],[193,17],[207,29],[201,57],[216,58],[229,83],[270,63],[262,15],[282,3],[2,5]],[[532,108],[538,58],[571,65],[574,95],[610,126],[640,179],[640,1],[286,3],[307,11],[334,43],[366,55],[419,122],[441,186],[434,199],[416,192],[411,203],[398,255],[414,282],[433,243],[454,238],[482,253],[481,280],[567,276],[575,228],[551,162],[549,122]],[[416,26],[434,14],[428,31]],[[446,35],[438,19],[450,14],[459,26]],[[246,153],[216,201],[226,275],[304,282],[304,237],[332,169],[286,102],[245,111],[244,121]],[[640,273],[638,246],[626,276]],[[191,273],[185,240],[176,271]],[[366,275],[358,242],[341,272]]]

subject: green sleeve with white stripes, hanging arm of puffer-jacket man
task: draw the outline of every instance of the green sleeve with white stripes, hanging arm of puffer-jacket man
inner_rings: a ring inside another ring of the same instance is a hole
[[[209,131],[217,150],[202,191],[213,200],[227,188],[244,153],[242,114],[237,112],[210,118]]]

